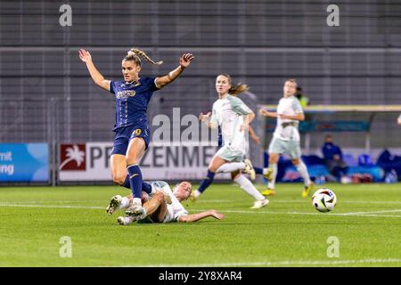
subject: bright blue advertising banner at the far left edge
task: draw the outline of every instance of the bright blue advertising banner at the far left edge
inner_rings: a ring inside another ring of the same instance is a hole
[[[0,182],[48,181],[47,143],[0,143]]]

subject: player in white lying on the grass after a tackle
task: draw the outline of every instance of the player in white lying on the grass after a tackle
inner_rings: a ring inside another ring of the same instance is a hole
[[[187,199],[192,191],[192,184],[182,182],[176,184],[171,191],[168,183],[164,181],[153,181],[146,183],[151,186],[151,194],[143,191],[143,211],[132,212],[128,208],[132,204],[132,195],[121,197],[116,195],[110,199],[110,204],[106,208],[106,213],[111,215],[117,209],[127,210],[127,216],[119,216],[117,221],[121,225],[138,223],[189,223],[196,222],[205,217],[213,216],[218,220],[224,218],[224,215],[217,213],[216,210],[209,210],[198,214],[190,215],[181,204]]]

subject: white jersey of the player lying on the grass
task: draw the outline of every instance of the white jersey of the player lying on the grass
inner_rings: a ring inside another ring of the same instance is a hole
[[[164,181],[153,181],[151,183],[151,188],[153,190],[165,192],[171,199],[172,203],[168,204],[168,211],[164,217],[163,223],[177,222],[180,216],[188,215],[188,211],[184,208],[180,201],[176,199],[176,196],[174,196],[173,191],[171,191],[168,183]]]

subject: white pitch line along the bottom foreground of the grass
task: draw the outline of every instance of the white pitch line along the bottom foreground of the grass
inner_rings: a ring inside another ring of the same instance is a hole
[[[299,260],[299,261],[262,261],[262,262],[239,262],[239,263],[213,263],[199,265],[124,265],[127,267],[229,267],[229,266],[276,266],[276,265],[352,265],[352,264],[387,264],[401,263],[398,258],[371,258],[371,259],[356,259],[356,260]]]

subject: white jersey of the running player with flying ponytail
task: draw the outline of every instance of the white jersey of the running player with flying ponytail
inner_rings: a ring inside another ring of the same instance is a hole
[[[240,98],[226,94],[214,102],[210,123],[221,127],[225,145],[246,153],[248,151],[248,131],[240,131],[240,127],[244,122],[244,116],[250,113],[252,110]]]

